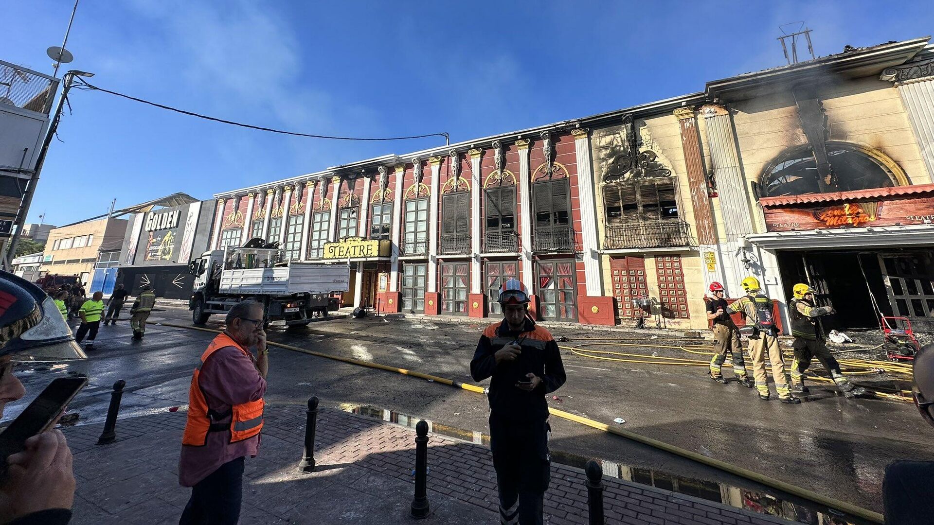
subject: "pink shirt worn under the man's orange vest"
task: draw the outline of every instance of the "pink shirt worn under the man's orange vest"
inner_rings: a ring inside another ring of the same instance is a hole
[[[205,393],[208,408],[223,413],[233,404],[257,401],[266,391],[266,380],[256,365],[238,348],[224,347],[215,351],[201,367],[198,383]],[[230,417],[217,422],[230,422]],[[230,443],[230,433],[209,432],[204,447],[181,446],[178,459],[178,483],[194,487],[196,483],[218,470],[227,461],[256,457],[260,434]]]

